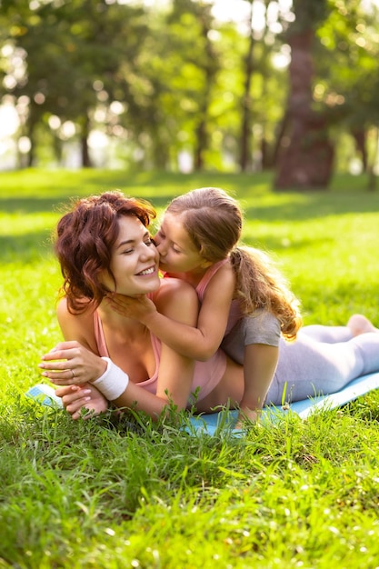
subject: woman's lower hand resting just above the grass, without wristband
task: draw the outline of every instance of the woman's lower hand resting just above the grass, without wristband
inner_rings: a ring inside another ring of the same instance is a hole
[[[108,402],[105,396],[92,384],[65,385],[57,387],[55,394],[62,398],[65,410],[72,415],[73,419],[89,419],[94,414],[105,413]],[[83,414],[82,409],[89,413]]]

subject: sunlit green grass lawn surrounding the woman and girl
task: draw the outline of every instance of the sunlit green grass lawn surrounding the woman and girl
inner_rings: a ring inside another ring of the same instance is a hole
[[[61,339],[50,235],[71,196],[121,188],[159,209],[220,185],[244,242],[280,262],[306,324],[379,325],[379,194],[339,176],[327,193],[270,175],[0,174],[0,568],[213,569],[379,565],[379,396],[307,421],[193,436],[174,419],[73,422],[25,398]],[[185,418],[183,418],[185,422]]]

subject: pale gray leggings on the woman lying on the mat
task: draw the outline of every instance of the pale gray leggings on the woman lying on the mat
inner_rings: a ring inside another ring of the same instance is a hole
[[[233,343],[222,347],[234,361],[243,364],[244,345],[253,342],[246,338],[244,326],[233,332],[237,330],[240,337],[234,336]],[[352,337],[345,326],[304,326],[294,342],[279,340],[279,362],[266,403],[281,404],[284,388],[285,401],[294,402],[335,393],[356,377],[378,371],[379,334]]]

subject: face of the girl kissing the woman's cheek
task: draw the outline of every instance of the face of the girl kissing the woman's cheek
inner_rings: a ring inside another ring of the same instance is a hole
[[[210,265],[194,247],[182,224],[181,214],[165,213],[155,243],[160,256],[159,266],[167,273],[201,271]]]

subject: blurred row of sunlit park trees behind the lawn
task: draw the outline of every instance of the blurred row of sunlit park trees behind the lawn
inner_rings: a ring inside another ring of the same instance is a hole
[[[0,0],[0,170],[378,166],[375,0]]]

